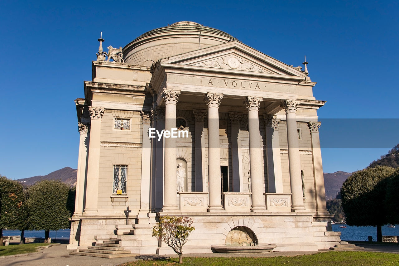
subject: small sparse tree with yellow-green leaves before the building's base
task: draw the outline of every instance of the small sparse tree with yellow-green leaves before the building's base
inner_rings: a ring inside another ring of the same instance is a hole
[[[183,263],[183,246],[195,229],[192,223],[192,218],[188,217],[161,216],[152,228],[152,236],[168,244],[179,255],[179,263]]]

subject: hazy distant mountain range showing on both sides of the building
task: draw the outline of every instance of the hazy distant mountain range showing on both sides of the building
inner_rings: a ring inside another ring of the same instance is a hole
[[[324,185],[326,188],[326,199],[335,199],[338,192],[342,187],[342,183],[352,174],[343,171],[337,171],[335,173],[323,173],[324,174]],[[61,180],[62,182],[70,185],[71,187],[76,185],[77,169],[71,167],[64,167],[48,175],[37,175],[36,177],[29,177],[24,179],[18,179],[25,187],[32,186],[36,182],[47,179],[47,180]]]

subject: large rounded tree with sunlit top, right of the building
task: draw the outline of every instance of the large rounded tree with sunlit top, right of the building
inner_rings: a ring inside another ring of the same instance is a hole
[[[346,223],[352,226],[377,226],[377,241],[382,241],[381,226],[388,223],[384,202],[387,180],[394,171],[387,166],[366,168],[354,172],[341,188]]]

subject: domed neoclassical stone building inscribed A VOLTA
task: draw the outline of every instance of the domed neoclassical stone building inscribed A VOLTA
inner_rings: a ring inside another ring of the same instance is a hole
[[[171,254],[151,235],[162,215],[193,218],[186,253],[340,241],[324,193],[317,110],[325,101],[313,97],[307,62],[302,71],[194,22],[108,52],[99,41],[93,80],[75,100],[74,254]]]

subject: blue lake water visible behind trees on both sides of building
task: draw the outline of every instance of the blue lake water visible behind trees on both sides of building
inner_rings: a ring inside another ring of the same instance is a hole
[[[341,232],[341,240],[354,240],[354,241],[367,241],[368,236],[373,237],[373,241],[377,241],[377,228],[372,226],[349,226],[346,228],[340,228],[340,225],[346,224],[333,224],[332,230],[335,232]],[[57,239],[69,239],[69,229],[57,230]],[[3,230],[4,236],[20,236],[21,231],[18,230]],[[389,228],[386,225],[382,226],[383,236],[399,236],[399,226],[395,228]],[[44,230],[41,231],[25,231],[25,237],[43,237]],[[50,237],[55,240],[55,231],[50,231]]]

